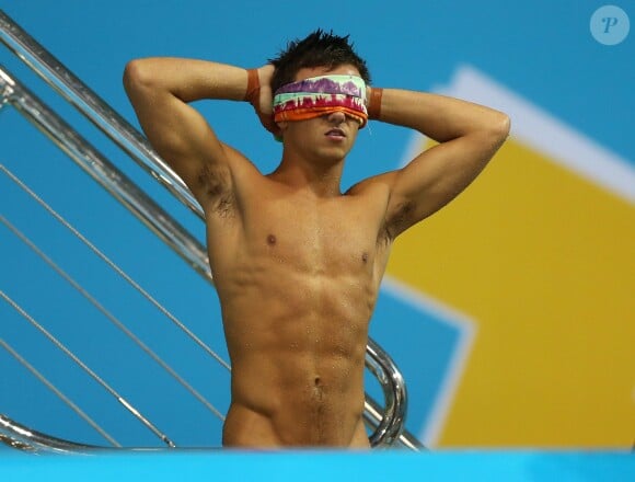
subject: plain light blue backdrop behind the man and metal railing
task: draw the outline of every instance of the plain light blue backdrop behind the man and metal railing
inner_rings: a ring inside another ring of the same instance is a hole
[[[449,82],[459,66],[470,65],[634,164],[635,39],[631,33],[623,43],[604,46],[593,38],[589,22],[603,4],[591,0],[326,4],[38,0],[2,1],[0,8],[135,125],[120,81],[129,59],[184,56],[255,67],[275,56],[287,39],[320,26],[350,33],[377,85],[431,90]],[[630,2],[612,4],[631,19],[635,15]],[[176,206],[4,48],[0,48],[0,62],[203,239],[203,227],[194,216]],[[219,137],[239,147],[263,171],[274,169],[280,146],[259,127],[251,107],[230,102],[200,102],[197,106]],[[405,129],[372,123],[349,157],[343,187],[397,167],[409,138]],[[0,112],[0,163],[77,225],[213,349],[224,353],[213,290],[11,107]],[[227,409],[227,372],[201,349],[192,347],[134,289],[123,287],[2,174],[0,214],[60,260],[65,269],[140,337],[150,340],[152,348],[215,405]],[[218,418],[185,397],[184,389],[151,360],[132,355],[131,343],[3,226],[0,245],[0,289],[129,397],[177,444],[218,445]],[[418,311],[388,292],[378,302],[371,334],[403,368],[411,392],[407,426],[418,434],[428,422],[458,334],[437,314]],[[0,337],[122,444],[158,444],[146,428],[128,423],[131,417],[109,395],[50,349],[4,302],[0,302]],[[59,437],[104,444],[88,426],[76,423],[77,416],[3,349],[0,369],[4,374],[0,413]]]

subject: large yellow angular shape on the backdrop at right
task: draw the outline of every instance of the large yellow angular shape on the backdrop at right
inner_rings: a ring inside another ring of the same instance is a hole
[[[510,139],[388,273],[476,337],[440,446],[631,447],[635,209]]]

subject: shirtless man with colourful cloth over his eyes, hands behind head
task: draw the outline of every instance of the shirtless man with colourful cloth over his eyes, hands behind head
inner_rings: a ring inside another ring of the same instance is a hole
[[[369,447],[365,349],[391,245],[463,191],[508,135],[500,112],[369,80],[348,36],[322,31],[253,70],[178,58],[126,66],[148,139],[205,211],[232,364],[224,446]],[[188,105],[204,99],[251,101],[282,140],[278,168],[263,175],[220,141]],[[343,194],[345,158],[369,116],[440,144]]]

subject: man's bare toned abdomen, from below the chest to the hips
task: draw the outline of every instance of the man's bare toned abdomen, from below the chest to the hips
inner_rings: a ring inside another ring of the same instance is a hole
[[[232,362],[224,446],[369,447],[361,417],[366,296],[359,286],[302,278],[243,285],[224,297]]]

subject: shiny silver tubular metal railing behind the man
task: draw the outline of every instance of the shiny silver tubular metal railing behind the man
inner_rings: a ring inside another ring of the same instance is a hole
[[[146,138],[1,10],[0,41],[181,203],[204,218],[183,181],[152,150]],[[15,107],[189,266],[212,283],[206,250],[198,240],[1,66],[0,93],[2,103]],[[187,330],[185,326],[183,329]],[[194,334],[190,336],[197,342]],[[216,355],[213,352],[211,354]],[[371,445],[422,448],[420,443],[404,431],[406,390],[403,377],[390,356],[372,340],[367,346],[366,365],[377,377],[385,402],[381,409],[367,395],[365,422],[373,429]],[[30,447],[30,444],[37,450],[44,449],[47,444],[54,451],[84,451],[83,448],[90,448],[25,428],[7,416],[0,417],[0,441],[11,445],[8,440],[13,440],[15,448],[26,449],[24,447]],[[58,450],[59,447],[62,449]]]

